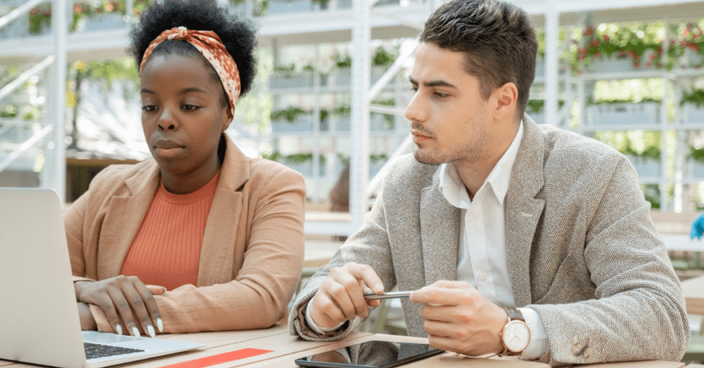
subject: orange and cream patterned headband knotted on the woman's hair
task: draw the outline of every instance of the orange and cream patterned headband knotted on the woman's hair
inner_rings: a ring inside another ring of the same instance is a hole
[[[188,42],[205,56],[210,65],[213,65],[215,72],[218,72],[222,86],[225,87],[227,99],[230,101],[230,118],[232,118],[234,116],[234,103],[239,99],[239,91],[241,89],[239,70],[237,69],[237,64],[234,63],[234,59],[227,52],[225,45],[222,44],[220,37],[213,31],[194,31],[188,30],[186,27],[173,27],[170,30],[161,32],[159,37],[156,37],[144,51],[142,63],[139,64],[139,75],[142,76],[144,65],[146,65],[146,61],[156,49],[156,46],[167,39],[182,39]]]

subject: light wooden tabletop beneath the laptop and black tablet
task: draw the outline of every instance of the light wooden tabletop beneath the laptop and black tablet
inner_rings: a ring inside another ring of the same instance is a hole
[[[233,351],[256,348],[271,350],[270,353],[255,355],[241,360],[233,360],[210,366],[208,368],[233,368],[233,367],[251,367],[251,368],[297,368],[296,360],[299,357],[318,354],[327,350],[341,348],[353,343],[360,343],[370,340],[382,341],[400,341],[408,343],[427,343],[425,338],[413,338],[408,336],[393,336],[384,334],[369,334],[363,332],[353,332],[343,341],[317,343],[303,341],[296,336],[288,334],[287,326],[279,325],[270,329],[253,330],[253,331],[226,331],[226,332],[204,332],[199,334],[182,334],[182,335],[161,335],[158,338],[169,338],[182,341],[192,341],[195,343],[203,343],[206,345],[201,350],[195,350],[189,353],[182,353],[168,357],[161,357],[144,362],[124,365],[121,367],[130,368],[161,368],[171,364],[189,362],[191,360],[210,357],[222,353],[230,353]],[[0,366],[4,368],[36,368],[37,366],[30,364],[13,363],[0,360]],[[487,355],[484,357],[465,357],[454,353],[443,353],[435,355],[425,360],[412,362],[403,365],[408,368],[435,368],[435,367],[487,367],[487,368],[546,368],[547,364],[537,362],[523,362],[515,357],[496,357],[496,355]],[[684,363],[679,362],[624,362],[613,364],[592,364],[579,367],[594,367],[594,368],[683,368]],[[696,364],[688,367],[702,367]]]

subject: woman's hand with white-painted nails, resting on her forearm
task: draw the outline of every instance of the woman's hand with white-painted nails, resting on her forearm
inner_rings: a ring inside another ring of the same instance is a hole
[[[165,291],[161,286],[146,286],[134,276],[118,276],[101,281],[76,281],[74,287],[76,300],[100,307],[118,334],[125,331],[140,336],[138,324],[151,337],[156,336],[154,326],[163,331],[153,297]]]

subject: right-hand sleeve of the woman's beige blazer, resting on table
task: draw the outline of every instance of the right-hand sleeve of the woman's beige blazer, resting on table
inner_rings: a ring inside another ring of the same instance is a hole
[[[306,186],[293,170],[280,171],[263,186],[237,276],[155,296],[164,332],[260,329],[284,317],[303,269]]]

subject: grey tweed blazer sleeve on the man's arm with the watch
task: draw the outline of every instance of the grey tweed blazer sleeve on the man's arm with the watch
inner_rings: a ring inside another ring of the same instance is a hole
[[[548,333],[550,364],[679,361],[689,340],[684,296],[636,171],[623,158],[610,179],[596,182],[603,184],[594,186],[593,201],[584,204],[593,208],[584,224],[584,247],[571,244],[568,254],[589,269],[593,298],[529,305]],[[567,296],[580,287],[560,286]]]

